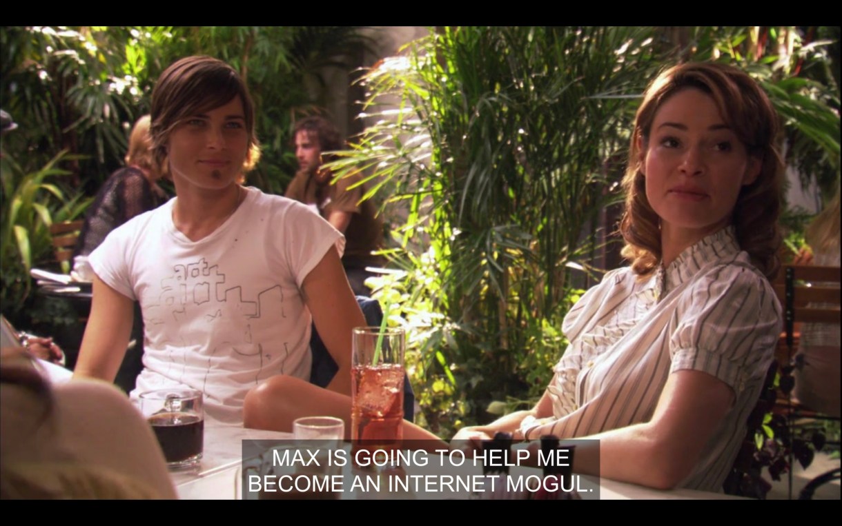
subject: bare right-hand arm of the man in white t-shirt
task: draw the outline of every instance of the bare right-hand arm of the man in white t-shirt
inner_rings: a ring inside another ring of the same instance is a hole
[[[351,292],[335,247],[307,274],[301,287],[316,330],[338,365],[330,391],[351,394],[351,329],[365,326],[365,317]]]

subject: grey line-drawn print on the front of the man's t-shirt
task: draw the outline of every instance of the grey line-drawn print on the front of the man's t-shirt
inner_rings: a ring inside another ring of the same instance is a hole
[[[264,342],[254,341],[253,324],[265,325],[271,322],[266,319],[269,316],[285,317],[280,284],[261,290],[254,298],[243,297],[242,285],[227,283],[226,274],[220,272],[218,265],[210,265],[200,258],[193,263],[175,265],[173,274],[161,280],[160,290],[157,302],[148,305],[145,322],[150,326],[160,325],[164,330],[206,324],[206,330],[179,331],[180,348],[204,349],[205,380],[210,370],[218,366],[215,358],[238,355],[245,359],[253,357],[257,362],[249,364],[248,369],[255,371],[254,382],[258,383],[264,359],[269,362],[272,355],[264,353]],[[211,333],[213,336],[208,337]],[[193,339],[189,336],[185,340],[185,334],[192,335],[196,341],[189,341]],[[210,342],[215,343],[213,348],[207,347]],[[273,343],[267,347],[277,348],[278,342]],[[285,359],[290,354],[289,343],[282,344],[285,355],[280,370],[274,373],[284,373]]]

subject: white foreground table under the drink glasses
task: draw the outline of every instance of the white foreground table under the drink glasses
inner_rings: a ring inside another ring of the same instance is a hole
[[[179,498],[182,499],[197,499],[197,500],[231,500],[238,498],[237,480],[241,476],[240,467],[242,465],[242,440],[283,440],[290,439],[290,433],[279,433],[274,431],[261,431],[257,429],[244,429],[233,426],[208,425],[205,428],[205,453],[204,458],[197,469],[188,471],[173,471],[171,476],[173,484],[176,486]],[[476,471],[476,473],[473,473]],[[463,467],[456,468],[442,468],[436,462],[430,462],[426,467],[419,467],[417,465],[407,468],[408,475],[436,475],[440,476],[443,473],[461,474],[465,475],[469,472],[471,475],[479,475],[479,468]],[[351,470],[350,465],[343,470],[344,480],[350,481],[354,474],[359,474],[357,470]],[[522,476],[528,474],[540,474],[540,470],[526,467],[511,468],[513,476]],[[587,490],[593,489],[596,482],[591,477],[582,477],[582,487]],[[350,486],[350,484],[348,484]],[[346,486],[346,488],[348,487]],[[442,498],[447,497],[445,494],[436,496],[434,494],[419,494],[413,493],[392,493],[388,495],[381,494],[360,494],[360,492],[345,491],[341,494],[343,499],[380,499],[380,498],[410,498],[410,499],[428,499],[428,498]],[[467,497],[466,495],[450,495],[450,497]],[[585,492],[582,494],[585,499],[589,495]],[[634,484],[627,484],[625,482],[610,481],[608,479],[600,480],[600,499],[603,500],[630,500],[630,499],[734,499],[738,497],[730,497],[721,493],[711,493],[707,491],[695,491],[687,489],[677,489],[670,491],[653,490],[643,486]]]

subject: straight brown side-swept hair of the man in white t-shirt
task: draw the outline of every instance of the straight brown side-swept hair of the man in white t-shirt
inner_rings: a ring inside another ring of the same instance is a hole
[[[258,147],[254,134],[254,104],[248,87],[225,62],[210,56],[187,56],[158,77],[152,90],[152,151],[156,164],[167,158],[169,134],[185,118],[219,108],[233,98],[242,101],[249,151]],[[248,157],[244,164],[248,167]],[[163,170],[162,170],[163,172]]]

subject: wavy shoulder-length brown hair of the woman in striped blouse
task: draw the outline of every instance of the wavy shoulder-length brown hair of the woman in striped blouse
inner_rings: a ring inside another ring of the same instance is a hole
[[[646,198],[642,156],[649,132],[661,105],[675,93],[695,88],[713,98],[719,114],[743,142],[750,156],[761,160],[759,176],[743,186],[734,205],[732,225],[740,248],[749,252],[752,263],[773,279],[781,262],[781,178],[783,162],[776,146],[778,117],[766,94],[744,72],[713,62],[688,62],[663,71],[646,90],[637,109],[629,162],[622,185],[626,210],[620,233],[626,242],[622,255],[641,277],[653,273],[662,258],[660,218]]]

